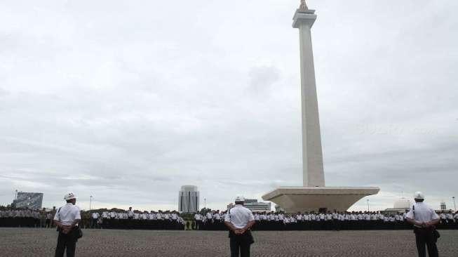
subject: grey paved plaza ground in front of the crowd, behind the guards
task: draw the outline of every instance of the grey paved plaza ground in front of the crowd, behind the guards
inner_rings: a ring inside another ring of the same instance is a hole
[[[83,230],[76,256],[229,256],[227,232]],[[458,230],[440,231],[440,256],[458,256]],[[410,230],[253,232],[252,256],[416,256]],[[53,256],[52,229],[0,228],[0,256]]]

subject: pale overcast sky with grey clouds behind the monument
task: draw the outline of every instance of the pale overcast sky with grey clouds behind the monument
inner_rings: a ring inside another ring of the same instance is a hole
[[[458,1],[309,0],[325,180],[452,207]],[[0,1],[0,204],[206,206],[302,185],[299,0]]]

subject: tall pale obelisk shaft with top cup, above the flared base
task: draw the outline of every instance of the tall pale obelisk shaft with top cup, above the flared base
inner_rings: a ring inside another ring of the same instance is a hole
[[[316,14],[314,10],[307,8],[305,2],[302,2],[293,20],[292,27],[299,29],[303,183],[304,187],[323,187],[325,186],[325,174],[310,31],[316,20]]]

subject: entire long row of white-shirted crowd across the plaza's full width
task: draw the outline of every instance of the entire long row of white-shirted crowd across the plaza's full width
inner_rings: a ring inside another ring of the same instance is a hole
[[[53,228],[55,212],[29,209],[0,209],[0,227]],[[81,211],[81,228],[142,230],[227,230],[227,211],[202,211],[186,227],[177,211],[127,211],[121,209]],[[458,212],[438,213],[438,229],[458,229]],[[253,230],[405,230],[406,213],[384,215],[381,212],[254,213]]]

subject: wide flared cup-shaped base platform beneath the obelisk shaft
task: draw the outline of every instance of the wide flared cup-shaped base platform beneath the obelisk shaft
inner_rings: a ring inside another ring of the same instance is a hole
[[[375,195],[379,187],[278,187],[262,196],[286,213],[298,211],[346,211],[359,199]]]

